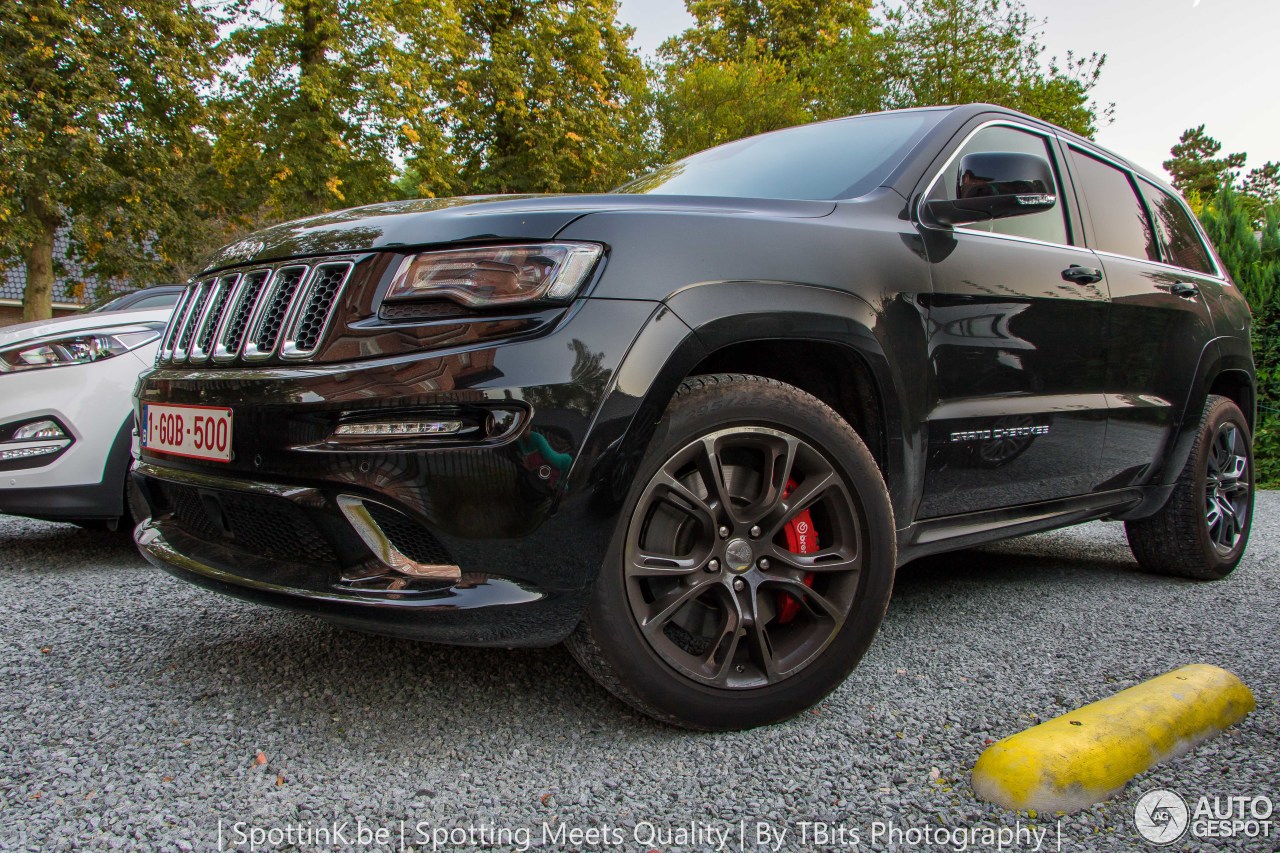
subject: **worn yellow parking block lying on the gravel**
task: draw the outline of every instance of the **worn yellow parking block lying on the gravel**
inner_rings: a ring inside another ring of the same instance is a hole
[[[973,790],[1005,808],[1074,812],[1254,708],[1240,679],[1193,663],[993,743]]]

